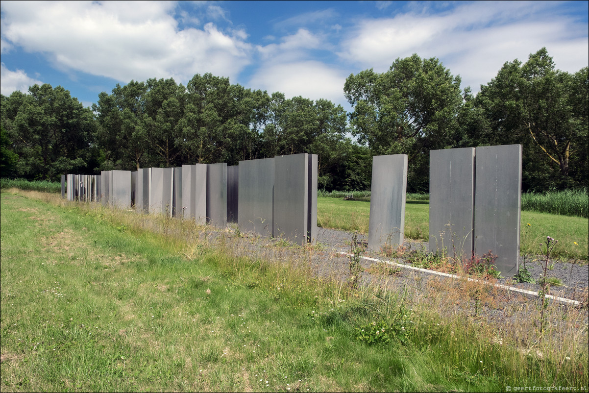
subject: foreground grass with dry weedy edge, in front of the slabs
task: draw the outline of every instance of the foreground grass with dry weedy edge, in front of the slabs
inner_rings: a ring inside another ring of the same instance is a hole
[[[585,309],[542,318],[489,286],[419,277],[352,290],[294,267],[312,248],[242,257],[247,239],[186,221],[32,191],[0,201],[2,391],[587,387]]]

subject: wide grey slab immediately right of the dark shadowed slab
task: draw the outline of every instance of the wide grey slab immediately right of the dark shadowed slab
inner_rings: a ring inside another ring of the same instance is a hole
[[[239,227],[261,235],[274,236],[274,160],[239,161]]]

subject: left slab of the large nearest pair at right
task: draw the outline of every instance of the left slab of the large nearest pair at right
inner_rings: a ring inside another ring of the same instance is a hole
[[[475,148],[429,151],[429,251],[469,258],[474,249]]]

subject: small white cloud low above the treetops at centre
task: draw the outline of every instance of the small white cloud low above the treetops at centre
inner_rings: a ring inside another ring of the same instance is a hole
[[[287,98],[300,95],[312,100],[325,98],[333,103],[342,103],[345,101],[343,84],[348,75],[322,62],[300,61],[262,67],[248,85],[267,90],[270,94],[280,91]]]

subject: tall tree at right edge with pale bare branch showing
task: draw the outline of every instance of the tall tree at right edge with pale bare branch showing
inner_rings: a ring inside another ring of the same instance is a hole
[[[586,187],[588,85],[587,67],[555,70],[546,48],[506,62],[477,95],[486,119],[475,138],[523,145],[524,188]]]

